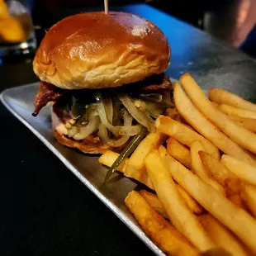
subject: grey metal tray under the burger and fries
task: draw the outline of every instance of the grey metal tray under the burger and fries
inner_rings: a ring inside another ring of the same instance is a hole
[[[2,92],[0,99],[3,105],[30,129],[154,254],[164,256],[165,254],[140,229],[124,203],[126,195],[133,189],[139,188],[140,184],[119,175],[112,182],[102,186],[107,168],[103,168],[98,163],[98,156],[78,153],[60,145],[55,140],[51,128],[50,107],[43,108],[36,118],[31,116],[37,90],[38,83],[31,83],[7,89]]]

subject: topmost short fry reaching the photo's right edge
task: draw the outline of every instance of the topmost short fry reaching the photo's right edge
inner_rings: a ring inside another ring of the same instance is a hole
[[[208,92],[209,99],[219,104],[227,104],[249,111],[256,111],[256,105],[252,102],[244,100],[242,97],[235,95],[234,93],[227,92],[221,88],[211,88]]]

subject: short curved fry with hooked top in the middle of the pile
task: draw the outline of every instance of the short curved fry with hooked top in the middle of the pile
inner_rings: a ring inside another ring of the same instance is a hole
[[[209,184],[211,187],[214,187],[218,192],[225,195],[224,187],[222,187],[216,180],[211,179],[207,172],[205,166],[201,163],[200,156],[198,154],[199,151],[204,151],[204,147],[197,140],[192,142],[191,146],[191,162],[192,162],[192,170],[197,174],[199,178],[201,178],[204,182]]]

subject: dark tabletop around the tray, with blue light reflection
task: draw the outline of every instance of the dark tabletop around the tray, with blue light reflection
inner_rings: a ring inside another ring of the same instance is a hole
[[[153,7],[116,9],[153,21],[168,36],[168,75],[188,71],[203,88],[228,88],[255,102],[254,59]],[[1,90],[35,81],[31,60],[0,66]],[[2,104],[0,117],[1,255],[152,255]]]

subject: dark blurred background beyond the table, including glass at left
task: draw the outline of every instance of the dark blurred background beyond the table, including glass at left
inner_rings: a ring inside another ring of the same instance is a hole
[[[109,0],[110,10],[131,3],[149,4],[256,58],[256,0]],[[0,64],[33,56],[59,19],[101,9],[103,0],[0,0]]]

